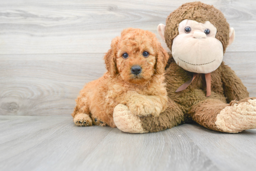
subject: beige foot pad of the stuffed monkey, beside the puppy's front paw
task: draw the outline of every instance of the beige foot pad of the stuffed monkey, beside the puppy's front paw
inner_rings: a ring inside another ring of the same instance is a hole
[[[133,115],[129,108],[124,104],[119,104],[115,107],[113,113],[116,127],[124,132],[129,133],[146,133],[142,128],[139,116]]]

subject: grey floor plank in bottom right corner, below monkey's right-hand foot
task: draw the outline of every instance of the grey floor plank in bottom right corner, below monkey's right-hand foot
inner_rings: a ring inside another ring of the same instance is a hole
[[[179,129],[221,170],[255,171],[256,129],[235,134],[215,132],[197,124],[181,125]]]

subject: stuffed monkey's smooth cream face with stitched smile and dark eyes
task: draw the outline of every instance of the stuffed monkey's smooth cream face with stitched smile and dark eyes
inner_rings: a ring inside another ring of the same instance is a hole
[[[210,73],[220,66],[223,47],[215,38],[217,28],[213,24],[185,19],[179,23],[178,30],[171,52],[180,67],[193,73]]]

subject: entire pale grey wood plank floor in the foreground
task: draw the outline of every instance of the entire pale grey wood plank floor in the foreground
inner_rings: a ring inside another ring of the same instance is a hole
[[[0,168],[14,170],[254,171],[256,129],[237,134],[183,124],[129,134],[77,127],[71,117],[0,116]]]

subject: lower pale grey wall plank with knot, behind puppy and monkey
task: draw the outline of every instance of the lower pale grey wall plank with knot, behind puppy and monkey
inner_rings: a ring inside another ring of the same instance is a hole
[[[106,71],[103,54],[0,55],[0,115],[69,116],[85,83]],[[256,96],[256,52],[224,61]]]

